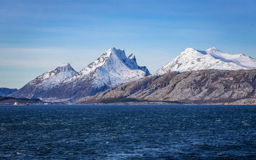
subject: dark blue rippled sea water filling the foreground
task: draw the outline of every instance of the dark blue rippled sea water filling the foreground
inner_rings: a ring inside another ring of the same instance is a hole
[[[256,159],[256,106],[0,106],[0,159]]]

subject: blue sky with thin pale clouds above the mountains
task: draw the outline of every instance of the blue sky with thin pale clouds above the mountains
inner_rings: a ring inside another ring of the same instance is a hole
[[[111,47],[151,73],[186,48],[256,58],[256,0],[0,0],[0,87],[79,72]]]

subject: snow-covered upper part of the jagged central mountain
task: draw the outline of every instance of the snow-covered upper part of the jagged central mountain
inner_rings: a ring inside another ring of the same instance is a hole
[[[97,86],[106,84],[116,87],[148,75],[150,73],[147,67],[138,66],[133,53],[126,57],[124,49],[113,47],[64,83],[72,81],[73,84],[77,84],[86,79],[94,79],[93,82]]]

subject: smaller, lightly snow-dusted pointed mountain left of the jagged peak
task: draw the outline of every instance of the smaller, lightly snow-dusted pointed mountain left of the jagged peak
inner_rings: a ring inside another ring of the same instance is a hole
[[[47,95],[48,90],[51,90],[62,81],[70,79],[76,75],[76,71],[69,63],[64,63],[49,70],[48,72],[38,76],[28,84],[8,96],[16,98],[38,98],[40,95]]]

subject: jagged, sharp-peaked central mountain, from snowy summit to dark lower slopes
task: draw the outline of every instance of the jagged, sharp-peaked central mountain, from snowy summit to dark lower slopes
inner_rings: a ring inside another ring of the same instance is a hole
[[[126,57],[123,49],[113,47],[76,76],[58,85],[57,90],[65,94],[57,98],[80,99],[84,96],[92,96],[108,88],[117,87],[148,75],[150,73],[147,67],[138,66],[134,54]]]

